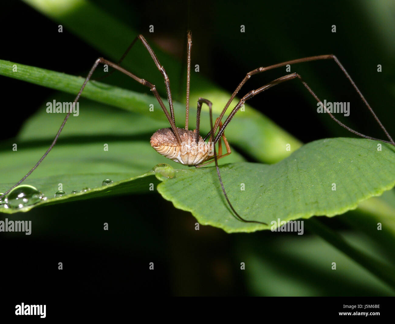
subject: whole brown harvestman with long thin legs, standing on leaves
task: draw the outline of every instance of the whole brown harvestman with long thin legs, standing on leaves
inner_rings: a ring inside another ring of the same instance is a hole
[[[167,111],[162,99],[160,98],[159,93],[156,90],[156,87],[155,87],[154,84],[150,83],[147,80],[144,80],[144,79],[141,79],[141,78],[135,76],[133,73],[125,70],[124,68],[122,68],[119,65],[123,61],[123,59],[126,57],[126,55],[128,54],[128,52],[130,51],[130,49],[133,47],[133,45],[135,44],[135,42],[137,40],[141,41],[141,43],[144,45],[145,49],[147,49],[147,51],[151,55],[152,60],[154,61],[156,67],[162,73],[162,76],[164,78],[165,85],[166,85],[166,93],[167,93],[167,100],[169,102],[170,115],[169,115],[169,112]],[[243,106],[243,104],[246,102],[246,100],[258,95],[258,93],[261,93],[261,92],[273,87],[274,85],[280,84],[280,83],[285,82],[285,81],[293,80],[293,79],[299,79],[303,83],[303,85],[307,88],[307,90],[310,92],[310,94],[317,100],[317,102],[321,102],[321,100],[311,90],[311,88],[307,85],[307,83],[305,81],[303,81],[301,76],[299,74],[297,74],[297,73],[292,73],[292,74],[288,74],[286,76],[282,76],[282,77],[280,77],[280,78],[278,78],[276,80],[273,80],[273,81],[267,83],[266,85],[263,85],[262,87],[260,87],[260,88],[258,88],[256,90],[252,90],[252,91],[248,92],[244,97],[242,97],[239,100],[239,102],[237,103],[235,108],[233,108],[233,110],[229,114],[228,118],[226,118],[225,122],[222,123],[222,121],[221,121],[222,117],[224,117],[224,114],[225,114],[226,110],[228,109],[230,103],[236,97],[237,93],[239,93],[239,91],[241,90],[243,85],[246,83],[246,81],[251,76],[253,76],[254,74],[258,74],[258,73],[261,73],[261,72],[264,72],[264,71],[267,71],[267,70],[271,70],[273,68],[286,66],[287,64],[296,64],[296,63],[302,63],[302,62],[308,62],[308,61],[318,61],[318,60],[325,60],[325,59],[333,59],[333,61],[336,62],[336,64],[340,67],[342,72],[345,74],[346,78],[351,82],[351,84],[354,87],[355,91],[357,91],[359,97],[361,97],[361,99],[363,100],[363,102],[365,103],[367,108],[372,113],[374,119],[376,119],[376,121],[378,122],[378,124],[380,125],[380,127],[382,128],[384,133],[387,135],[389,141],[380,140],[378,138],[374,138],[374,137],[371,137],[371,136],[366,136],[366,135],[363,135],[363,134],[361,134],[361,133],[359,133],[357,131],[354,131],[353,129],[351,129],[350,127],[344,125],[342,122],[340,122],[338,119],[336,119],[335,116],[333,116],[333,114],[331,114],[331,112],[327,111],[326,107],[324,106],[325,111],[339,125],[341,125],[345,129],[348,129],[348,131],[350,131],[350,132],[352,132],[352,133],[354,133],[356,135],[359,135],[361,137],[368,138],[368,139],[371,139],[371,140],[379,140],[379,141],[382,141],[382,142],[390,143],[390,144],[393,144],[395,146],[394,140],[391,138],[391,136],[389,135],[389,133],[387,132],[385,127],[382,125],[382,123],[380,122],[380,120],[378,119],[376,114],[374,114],[371,106],[369,105],[369,103],[367,102],[365,97],[363,97],[361,91],[359,91],[358,87],[355,85],[354,81],[352,80],[352,78],[350,77],[350,75],[348,74],[346,69],[342,66],[342,64],[340,63],[340,61],[337,59],[337,57],[335,55],[318,55],[318,56],[305,57],[305,58],[302,58],[302,59],[296,59],[296,60],[292,60],[292,61],[286,61],[286,62],[274,64],[274,65],[269,65],[269,66],[266,66],[266,67],[260,67],[260,68],[257,68],[255,70],[252,70],[252,71],[248,72],[246,74],[245,78],[240,82],[240,84],[238,85],[236,90],[233,92],[233,94],[229,98],[229,100],[226,103],[224,109],[222,110],[220,116],[216,119],[214,125],[213,125],[212,103],[209,100],[207,100],[207,99],[199,98],[199,100],[198,100],[198,107],[197,107],[197,113],[196,113],[196,129],[194,129],[193,131],[190,131],[188,129],[188,119],[189,119],[191,48],[192,48],[192,36],[191,36],[191,32],[188,31],[185,129],[176,127],[176,125],[175,125],[174,110],[173,110],[173,100],[171,99],[169,78],[167,77],[165,68],[159,63],[158,58],[156,57],[154,51],[152,50],[152,48],[150,47],[148,42],[145,40],[143,35],[139,35],[133,40],[132,44],[130,44],[130,46],[128,47],[128,49],[126,50],[124,55],[122,55],[121,59],[119,60],[119,62],[117,64],[115,64],[115,63],[113,63],[111,61],[108,61],[106,59],[103,59],[102,57],[98,58],[95,61],[95,63],[93,64],[92,68],[90,69],[87,78],[85,78],[85,81],[84,81],[83,85],[81,86],[81,89],[79,90],[79,92],[77,94],[77,97],[75,97],[75,99],[74,99],[74,103],[76,103],[79,100],[79,97],[81,96],[81,93],[82,93],[82,91],[85,88],[85,85],[87,85],[87,82],[90,80],[94,70],[96,70],[96,68],[98,67],[98,65],[100,63],[101,64],[107,64],[108,66],[111,66],[113,69],[119,70],[120,72],[126,74],[127,76],[130,76],[131,78],[133,78],[137,82],[141,83],[142,85],[145,85],[146,87],[149,87],[151,89],[152,93],[154,94],[154,96],[156,97],[156,100],[158,100],[158,103],[162,107],[162,110],[163,110],[163,112],[164,112],[164,114],[165,114],[165,116],[166,116],[166,118],[169,121],[169,124],[171,126],[170,128],[164,128],[164,129],[160,129],[160,130],[156,131],[154,133],[154,135],[152,135],[152,137],[151,137],[151,140],[150,140],[151,146],[158,153],[160,153],[161,155],[164,155],[165,157],[167,157],[167,158],[169,158],[169,159],[171,159],[171,160],[173,160],[175,162],[178,162],[178,163],[181,163],[181,164],[184,164],[184,165],[188,165],[188,166],[195,166],[195,167],[198,168],[198,167],[202,167],[202,166],[207,165],[207,164],[209,164],[209,163],[214,161],[215,162],[216,171],[217,171],[217,174],[218,174],[218,179],[220,181],[220,184],[221,184],[221,187],[222,187],[222,191],[224,193],[226,201],[228,202],[229,207],[231,208],[231,210],[235,213],[235,216],[239,220],[241,220],[242,222],[265,224],[263,222],[258,222],[258,221],[254,221],[254,220],[246,220],[246,219],[242,218],[236,212],[236,210],[233,208],[232,204],[230,203],[228,195],[226,194],[226,191],[225,191],[225,188],[224,188],[224,184],[222,183],[220,170],[218,168],[218,159],[221,159],[222,157],[225,157],[226,155],[229,155],[231,153],[231,149],[230,149],[229,143],[226,140],[225,133],[224,133],[226,127],[229,124],[229,122],[232,120],[232,118],[235,116],[235,114],[241,108],[241,106]],[[114,72],[114,70],[109,72],[109,74],[107,74],[107,76],[109,76],[112,72]],[[201,106],[202,106],[203,103],[205,103],[205,104],[207,104],[207,106],[209,106],[210,127],[211,127],[211,131],[204,138],[202,138],[199,135],[200,111],[201,111]],[[34,165],[34,167],[21,180],[19,180],[13,187],[11,187],[2,196],[0,196],[0,198],[4,197],[6,194],[9,193],[9,191],[11,191],[13,188],[18,186],[19,184],[21,184],[38,167],[38,165],[41,163],[41,161],[43,161],[43,159],[47,156],[49,151],[51,151],[53,146],[55,146],[56,141],[58,140],[58,137],[59,137],[64,125],[66,124],[67,119],[70,116],[70,113],[71,113],[71,110],[68,112],[66,117],[64,117],[62,125],[60,126],[58,132],[56,133],[56,136],[55,136],[51,146],[49,146],[48,150],[44,153],[44,155],[41,157],[41,159],[36,163],[36,165]],[[218,133],[217,133],[216,136],[214,136],[218,128],[219,128]],[[209,136],[210,136],[209,142],[205,143],[205,140],[207,140],[207,138]],[[222,142],[221,142],[221,139],[224,141],[224,144],[225,144],[225,147],[226,147],[226,153],[225,154],[222,154]],[[217,142],[218,142],[218,156],[216,154],[216,149],[215,149],[215,144]],[[188,143],[188,144],[186,144],[186,143]],[[213,157],[209,157],[209,154],[208,154],[208,151],[209,151],[208,145],[209,144],[212,144],[213,149],[214,149],[214,156]],[[265,225],[267,225],[267,224],[265,224]]]

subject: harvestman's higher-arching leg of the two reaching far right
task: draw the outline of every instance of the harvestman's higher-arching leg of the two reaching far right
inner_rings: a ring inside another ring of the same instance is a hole
[[[367,100],[365,99],[365,97],[363,97],[361,91],[359,91],[357,85],[355,84],[355,82],[352,80],[350,74],[348,74],[347,70],[343,67],[343,65],[340,63],[340,61],[337,59],[337,57],[333,54],[329,54],[329,55],[318,55],[318,56],[310,56],[310,57],[304,57],[302,59],[296,59],[296,60],[291,60],[291,61],[286,61],[286,62],[282,62],[282,63],[278,63],[278,64],[273,64],[273,65],[269,65],[266,67],[260,67],[260,68],[256,68],[255,70],[252,70],[250,72],[248,72],[245,76],[245,78],[243,79],[243,81],[240,82],[239,86],[236,88],[236,90],[233,92],[233,94],[231,95],[231,97],[229,98],[228,102],[226,103],[224,109],[222,110],[221,114],[220,114],[220,120],[222,120],[222,117],[224,116],[226,110],[229,107],[229,104],[232,102],[232,100],[236,97],[237,93],[240,91],[241,87],[243,87],[243,85],[247,82],[247,80],[254,74],[258,74],[264,71],[268,71],[271,70],[273,68],[279,68],[281,66],[286,66],[287,64],[296,64],[296,63],[302,63],[302,62],[308,62],[308,61],[318,61],[318,60],[326,60],[326,59],[333,59],[336,64],[340,67],[340,69],[342,70],[342,72],[344,73],[344,75],[346,76],[346,78],[350,81],[350,83],[352,84],[352,86],[354,87],[355,91],[357,91],[359,97],[361,97],[362,101],[365,103],[365,105],[367,106],[367,108],[370,110],[370,112],[372,113],[374,119],[376,119],[377,123],[380,125],[381,129],[384,131],[384,133],[387,135],[388,139],[390,140],[390,142],[395,146],[395,142],[394,140],[391,138],[391,136],[389,135],[389,133],[387,132],[387,130],[385,129],[384,125],[380,122],[380,120],[378,119],[378,117],[376,116],[376,114],[374,113],[373,109],[371,108],[371,106],[369,105],[369,103],[367,102]],[[332,116],[331,116],[332,117]],[[333,117],[332,117],[333,118]],[[218,128],[218,123],[216,123],[214,125],[214,133],[216,132]],[[208,133],[204,140],[207,139],[207,137],[209,136],[210,133]]]

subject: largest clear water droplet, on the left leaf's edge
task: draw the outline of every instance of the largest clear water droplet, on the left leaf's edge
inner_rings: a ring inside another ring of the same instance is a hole
[[[43,193],[29,185],[17,186],[12,189],[7,195],[4,202],[6,203],[6,208],[23,208],[25,206],[31,206],[36,203],[39,203],[44,199]]]

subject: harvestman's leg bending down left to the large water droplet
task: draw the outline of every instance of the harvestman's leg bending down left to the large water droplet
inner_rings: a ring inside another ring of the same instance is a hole
[[[137,82],[141,83],[142,85],[145,85],[146,87],[149,87],[152,91],[152,93],[154,93],[154,96],[156,97],[156,99],[158,100],[160,106],[162,107],[163,112],[166,115],[167,120],[170,123],[171,129],[173,129],[173,132],[177,138],[177,141],[179,142],[179,145],[181,146],[181,138],[180,135],[177,131],[177,127],[175,126],[175,123],[173,121],[173,119],[171,119],[171,116],[169,116],[169,112],[167,112],[167,109],[162,101],[162,99],[159,96],[158,91],[156,90],[156,87],[154,84],[144,80],[144,79],[140,79],[139,77],[135,76],[133,73],[125,70],[124,68],[122,68],[121,66],[119,66],[118,64],[115,64],[113,62],[107,61],[106,59],[103,59],[102,57],[99,57],[95,63],[93,64],[92,68],[90,69],[87,78],[85,78],[85,81],[83,83],[83,85],[81,86],[81,89],[79,90],[77,97],[75,97],[74,99],[74,103],[76,103],[79,100],[79,97],[81,96],[82,91],[84,90],[85,86],[87,85],[90,77],[92,76],[94,70],[96,70],[96,68],[98,67],[98,65],[102,63],[102,64],[108,64],[109,66],[111,66],[112,68],[115,68],[116,70],[119,70],[120,72],[126,74],[127,76],[130,76],[131,78],[133,78],[134,80],[136,80]],[[49,146],[47,152],[44,153],[44,155],[41,157],[40,160],[38,160],[38,162],[36,163],[36,165],[34,165],[34,167],[21,179],[19,180],[14,186],[12,186],[10,189],[8,189],[4,194],[2,194],[0,196],[0,198],[4,197],[7,193],[9,193],[13,188],[15,188],[16,186],[18,186],[19,184],[21,184],[23,182],[23,180],[25,180],[37,167],[38,165],[41,163],[41,161],[43,161],[43,159],[48,155],[48,153],[52,150],[52,148],[55,146],[56,141],[58,140],[58,137],[60,135],[60,133],[62,132],[62,129],[64,127],[64,125],[66,124],[67,119],[69,118],[71,113],[71,110],[67,113],[66,117],[64,117],[62,125],[60,125],[60,128],[58,130],[58,132],[56,133],[56,136],[51,144],[51,146]]]

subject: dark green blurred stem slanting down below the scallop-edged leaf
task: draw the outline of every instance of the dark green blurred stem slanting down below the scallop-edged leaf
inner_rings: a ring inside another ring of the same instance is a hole
[[[329,227],[322,224],[317,219],[310,218],[305,220],[306,228],[312,233],[322,237],[329,244],[335,246],[338,250],[352,258],[365,269],[369,270],[372,274],[380,280],[386,282],[393,290],[395,290],[395,268],[383,263],[380,260],[372,258],[371,256],[361,252],[351,246],[341,235],[331,230]]]

